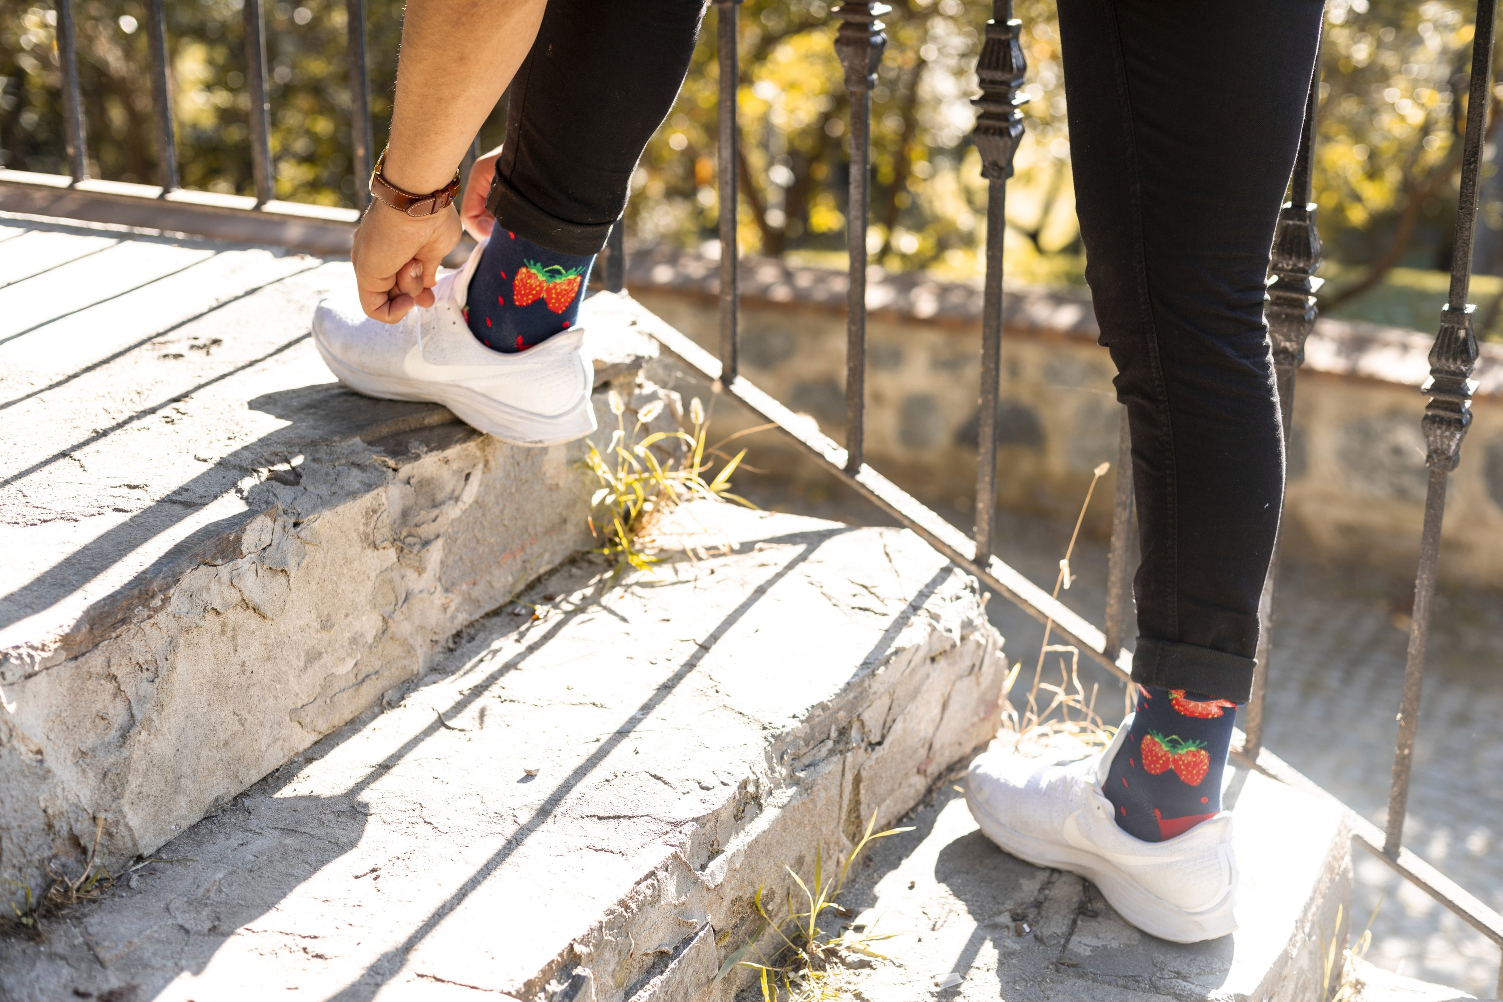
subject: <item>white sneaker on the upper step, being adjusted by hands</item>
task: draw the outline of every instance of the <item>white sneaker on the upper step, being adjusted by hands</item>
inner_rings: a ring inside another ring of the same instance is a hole
[[[397,323],[367,317],[353,290],[319,303],[313,341],[350,389],[385,400],[443,404],[466,424],[517,445],[555,445],[595,430],[594,368],[583,327],[504,355],[475,340],[464,321],[470,275],[485,243],[464,267],[440,272],[436,302],[413,306]]]

